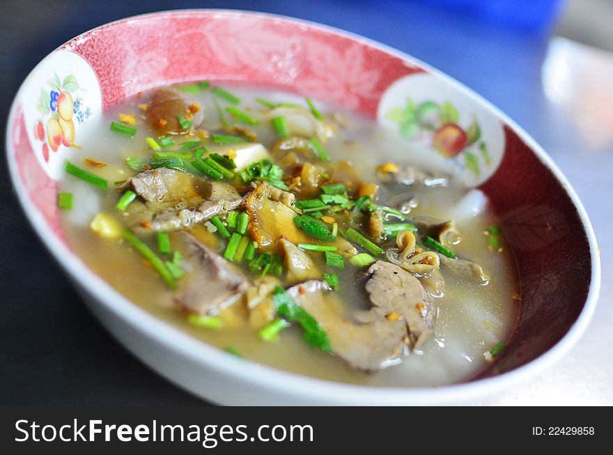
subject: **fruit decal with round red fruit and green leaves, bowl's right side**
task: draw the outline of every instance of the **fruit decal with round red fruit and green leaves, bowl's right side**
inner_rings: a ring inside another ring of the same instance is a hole
[[[491,164],[476,115],[472,115],[468,125],[460,125],[458,109],[449,101],[439,104],[428,100],[418,104],[407,98],[403,107],[391,107],[385,118],[398,125],[403,137],[430,144],[443,157],[455,160],[477,177],[481,164]]]

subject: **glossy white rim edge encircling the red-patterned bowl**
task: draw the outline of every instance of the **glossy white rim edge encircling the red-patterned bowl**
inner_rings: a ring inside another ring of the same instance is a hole
[[[252,17],[269,17],[284,22],[289,22],[295,26],[308,26],[316,30],[325,31],[338,36],[349,38],[358,43],[364,43],[382,52],[391,54],[403,60],[417,63],[421,68],[424,68],[430,74],[444,80],[453,87],[454,90],[462,91],[470,96],[476,103],[486,107],[492,114],[499,118],[502,123],[508,125],[515,134],[529,147],[532,153],[536,155],[538,160],[547,167],[553,176],[559,181],[561,187],[564,188],[577,210],[577,214],[582,222],[582,226],[587,235],[589,243],[589,254],[591,263],[591,278],[589,282],[589,291],[584,302],[584,306],[575,323],[566,332],[564,337],[557,344],[543,352],[536,359],[531,360],[521,367],[511,371],[500,373],[497,376],[490,378],[481,378],[465,383],[457,383],[452,385],[444,385],[439,387],[373,387],[364,385],[352,385],[346,383],[336,383],[328,380],[321,380],[302,376],[296,373],[290,373],[272,367],[267,367],[250,360],[242,360],[235,358],[232,355],[227,355],[224,351],[206,344],[189,336],[182,330],[171,326],[169,323],[149,314],[133,304],[130,300],[114,290],[109,284],[104,282],[98,275],[95,275],[86,265],[70,251],[70,249],[55,236],[49,236],[49,225],[40,213],[33,206],[33,203],[25,194],[25,188],[19,175],[19,169],[14,159],[15,150],[10,130],[7,129],[6,134],[6,152],[8,157],[8,167],[11,180],[15,187],[17,198],[24,209],[26,217],[29,219],[34,231],[45,244],[47,249],[53,254],[56,261],[62,266],[63,270],[71,277],[73,282],[85,288],[88,293],[96,296],[96,301],[103,304],[107,310],[111,311],[114,316],[121,318],[124,322],[131,325],[132,330],[137,330],[147,335],[153,341],[163,344],[167,348],[173,350],[177,355],[200,364],[208,369],[216,369],[218,373],[233,376],[242,381],[243,384],[254,387],[263,387],[269,390],[276,390],[282,396],[293,396],[297,401],[302,403],[350,403],[350,404],[373,404],[380,405],[396,405],[396,404],[445,404],[466,402],[472,399],[477,399],[482,396],[487,396],[494,392],[508,389],[513,385],[518,385],[525,380],[536,376],[537,373],[550,367],[557,362],[582,336],[586,329],[591,316],[596,308],[598,300],[598,291],[600,289],[600,257],[596,236],[593,232],[591,222],[582,205],[579,197],[571,187],[568,179],[552,158],[545,153],[543,148],[532,139],[525,130],[515,123],[509,116],[492,105],[488,100],[481,95],[474,93],[470,88],[467,88],[460,82],[456,81],[444,72],[433,68],[432,66],[420,61],[419,59],[391,48],[375,40],[359,36],[349,31],[337,29],[325,24],[319,24],[308,20],[300,20],[294,17],[283,15],[275,15],[270,13],[258,13],[245,10],[224,10],[224,9],[185,9],[185,10],[166,10],[156,13],[147,13],[126,17],[121,20],[116,20],[95,27],[81,33],[79,36],[72,38],[77,40],[87,36],[93,31],[102,27],[120,24],[122,22],[142,20],[148,17],[157,15],[183,15],[189,16],[193,13],[240,13],[245,16]],[[65,43],[66,44],[66,43]],[[64,45],[65,45],[64,44]],[[58,47],[60,49],[64,45]],[[17,98],[13,101],[8,116],[8,128],[15,123]],[[169,378],[173,380],[173,378]],[[271,386],[270,384],[274,384]],[[298,391],[298,392],[297,392]],[[209,399],[215,400],[215,396],[208,396]]]

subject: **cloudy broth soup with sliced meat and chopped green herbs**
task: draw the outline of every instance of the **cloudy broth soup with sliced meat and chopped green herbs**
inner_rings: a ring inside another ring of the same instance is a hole
[[[486,195],[371,119],[200,83],[86,128],[60,185],[70,246],[193,337],[380,386],[456,383],[504,348],[518,279]]]

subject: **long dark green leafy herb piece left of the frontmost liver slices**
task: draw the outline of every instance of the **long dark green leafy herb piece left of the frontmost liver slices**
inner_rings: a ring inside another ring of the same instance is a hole
[[[306,309],[296,304],[291,295],[289,295],[284,288],[277,286],[277,288],[274,289],[272,300],[277,306],[277,312],[281,316],[284,316],[290,322],[300,324],[304,330],[302,339],[304,339],[309,346],[323,352],[332,351],[330,340],[320,323],[318,323],[316,318],[313,318]]]

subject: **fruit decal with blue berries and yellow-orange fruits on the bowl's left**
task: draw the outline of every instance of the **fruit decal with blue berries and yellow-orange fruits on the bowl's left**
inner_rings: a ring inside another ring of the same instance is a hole
[[[54,74],[47,86],[40,90],[38,99],[38,111],[43,118],[34,127],[34,137],[42,141],[45,162],[49,161],[49,150],[57,152],[61,146],[80,148],[75,144],[75,121],[84,123],[91,117],[91,110],[77,95],[80,87],[75,76],[68,75],[61,81]]]

